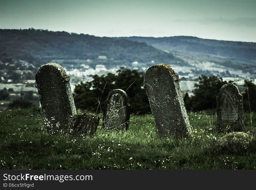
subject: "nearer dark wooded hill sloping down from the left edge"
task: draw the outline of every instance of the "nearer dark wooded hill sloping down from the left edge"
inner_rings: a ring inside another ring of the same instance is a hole
[[[90,67],[103,64],[131,67],[139,62],[147,66],[155,62],[172,63],[179,61],[173,54],[158,50],[144,42],[109,37],[96,37],[87,34],[52,32],[48,30],[0,30],[0,61],[8,58],[23,60],[40,66],[53,60],[61,60],[66,65],[83,60]]]

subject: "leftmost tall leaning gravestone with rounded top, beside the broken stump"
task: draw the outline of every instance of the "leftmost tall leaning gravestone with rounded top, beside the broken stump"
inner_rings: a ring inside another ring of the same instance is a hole
[[[70,116],[76,114],[69,80],[64,68],[56,63],[42,65],[36,72],[35,87],[49,133],[67,129]]]

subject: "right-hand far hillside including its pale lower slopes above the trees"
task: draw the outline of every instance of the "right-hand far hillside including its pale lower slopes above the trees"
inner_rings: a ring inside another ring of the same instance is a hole
[[[118,37],[144,42],[174,56],[190,66],[182,72],[207,76],[254,78],[256,75],[256,43],[201,39],[192,36]],[[179,69],[179,67],[178,67]],[[177,70],[177,69],[176,69]],[[188,75],[184,75],[188,78]]]

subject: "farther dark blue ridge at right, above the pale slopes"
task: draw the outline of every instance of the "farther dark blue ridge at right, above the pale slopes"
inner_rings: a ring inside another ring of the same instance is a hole
[[[129,39],[132,41],[145,42],[158,49],[179,52],[181,54],[193,52],[229,59],[256,61],[256,43],[210,40],[192,36],[173,36],[162,38],[132,36],[120,37],[117,39]]]

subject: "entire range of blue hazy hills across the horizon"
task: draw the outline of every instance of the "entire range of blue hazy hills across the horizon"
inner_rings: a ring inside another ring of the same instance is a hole
[[[151,65],[167,63],[180,77],[189,79],[201,74],[256,77],[256,43],[191,36],[109,38],[34,29],[0,30],[0,43],[2,65],[22,60],[35,70],[56,62],[68,70],[104,65],[107,70],[118,66],[145,72]]]

